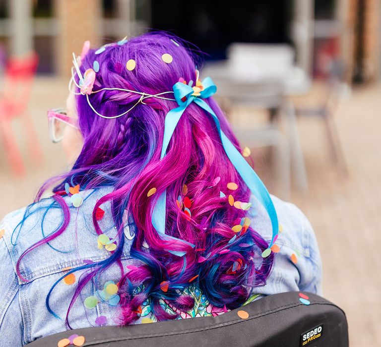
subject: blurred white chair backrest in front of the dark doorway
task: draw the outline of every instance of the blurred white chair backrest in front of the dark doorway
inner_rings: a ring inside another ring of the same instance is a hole
[[[242,79],[284,80],[293,69],[295,53],[283,44],[233,43],[227,56],[232,73]]]

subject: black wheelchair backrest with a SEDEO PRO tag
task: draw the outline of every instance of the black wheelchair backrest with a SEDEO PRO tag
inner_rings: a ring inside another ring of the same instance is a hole
[[[269,295],[216,317],[70,330],[27,346],[57,346],[77,334],[83,346],[102,347],[348,347],[344,312],[315,294],[300,294]]]

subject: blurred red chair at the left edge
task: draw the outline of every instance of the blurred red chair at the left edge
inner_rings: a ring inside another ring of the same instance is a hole
[[[20,117],[23,121],[23,131],[32,158],[35,161],[42,159],[37,134],[27,109],[37,64],[37,54],[31,53],[23,58],[10,58],[5,65],[4,87],[0,96],[0,137],[12,170],[17,174],[23,174],[25,168],[12,130],[14,118]]]

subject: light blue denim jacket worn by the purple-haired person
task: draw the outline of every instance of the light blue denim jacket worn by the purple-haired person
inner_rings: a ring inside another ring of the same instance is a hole
[[[0,347],[9,346],[10,343],[14,347],[23,346],[66,329],[64,324],[66,311],[81,272],[75,273],[73,284],[71,282],[66,284],[61,280],[51,293],[49,304],[59,318],[47,310],[46,296],[52,285],[64,275],[65,271],[67,272],[68,268],[83,265],[84,259],[95,262],[110,255],[104,248],[97,247],[97,234],[92,228],[92,210],[96,201],[112,189],[112,187],[102,187],[80,192],[84,202],[79,208],[72,206],[69,197],[64,197],[70,207],[70,223],[66,231],[49,245],[44,244],[33,249],[22,259],[20,273],[23,278],[16,274],[18,258],[28,247],[61,225],[62,209],[53,204],[46,213],[46,207],[54,203],[52,198],[46,198],[30,208],[35,212],[24,221],[21,229],[18,224],[23,219],[26,208],[7,214],[1,221],[0,231],[3,231],[3,236],[0,238]],[[275,196],[271,198],[282,230],[276,242],[280,251],[275,256],[274,267],[266,285],[255,288],[254,293],[269,295],[303,290],[321,295],[321,259],[309,221],[295,205]],[[251,202],[253,203],[249,212],[251,227],[269,241],[270,220],[254,196]],[[111,238],[115,236],[116,229],[111,218],[110,204],[102,205],[102,209],[105,210],[105,215],[99,223],[104,233]],[[133,234],[133,227],[125,228],[126,242],[122,255],[122,264],[125,267],[136,264],[136,261],[129,256]],[[87,285],[82,289],[69,313],[69,323],[73,329],[94,326],[99,316],[105,317],[103,319],[106,320],[106,325],[118,325],[117,305],[101,301],[95,308],[88,309],[83,302],[86,297],[94,295],[96,290],[103,289],[99,288],[99,284],[108,281],[117,283],[119,279],[119,266],[111,266],[97,278],[96,282],[92,281],[90,286]],[[199,295],[198,302],[204,306],[197,306],[198,311],[182,314],[179,318],[223,313],[214,310],[196,289],[193,295]],[[253,296],[253,298],[258,297]],[[147,319],[152,321],[154,317],[149,312],[149,305],[143,305],[141,317],[136,324],[145,323],[144,320]]]

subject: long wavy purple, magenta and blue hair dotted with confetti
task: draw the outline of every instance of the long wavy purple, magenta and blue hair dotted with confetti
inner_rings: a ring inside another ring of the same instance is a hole
[[[119,87],[148,94],[171,91],[181,77],[186,81],[194,80],[195,65],[199,67],[201,63],[185,41],[163,32],[146,33],[122,45],[111,44],[101,54],[95,52],[90,50],[80,65],[83,75],[86,69],[93,67],[94,60],[98,61],[100,67],[94,90]],[[171,63],[162,60],[164,53],[173,57]],[[136,61],[132,71],[125,68],[129,59]],[[125,112],[139,98],[139,94],[117,90],[89,95],[94,108],[107,116]],[[240,150],[220,107],[213,98],[205,101],[218,116],[224,133]],[[262,251],[268,247],[266,241],[250,227],[238,233],[232,230],[246,217],[247,211],[230,206],[228,197],[220,197],[220,191],[226,192],[227,183],[235,182],[239,187],[232,193],[236,201],[249,201],[251,192],[227,159],[211,117],[191,103],[174,131],[167,155],[160,160],[164,119],[178,105],[175,101],[157,98],[144,99],[144,103],[125,116],[104,119],[91,110],[85,96],[78,95],[76,105],[83,148],[72,170],[49,179],[37,194],[36,201],[51,186],[55,186],[54,192],[63,191],[65,183],[80,184],[81,189],[114,187],[111,193],[97,201],[93,224],[95,231],[101,234],[96,211],[110,201],[118,230],[118,248],[105,261],[71,270],[86,269],[87,272],[79,280],[67,315],[80,290],[96,274],[116,262],[122,266],[126,211],[136,227],[130,255],[140,261],[141,266],[122,271],[119,281],[121,325],[138,319],[138,308],[146,299],[150,299],[158,320],[177,318],[165,312],[159,300],[165,299],[179,309],[188,310],[193,306],[193,299],[178,289],[190,285],[200,289],[215,306],[239,307],[253,288],[265,284],[271,271],[273,254],[261,258]],[[221,179],[212,186],[216,177]],[[176,202],[179,195],[184,198],[184,184],[191,199],[191,218]],[[157,192],[147,197],[151,187],[156,187]],[[183,257],[168,252],[151,223],[155,197],[163,191],[167,193],[166,233],[195,244]],[[61,227],[24,252],[17,271],[25,254],[65,231],[70,212],[64,199],[57,194],[55,199],[64,211]],[[232,241],[234,235],[237,237]],[[229,241],[229,251],[223,251]],[[149,246],[148,251],[143,248],[144,242]],[[168,284],[167,290],[162,289],[163,282]],[[142,288],[138,294],[134,291],[137,287]],[[50,309],[49,297],[47,305]]]

